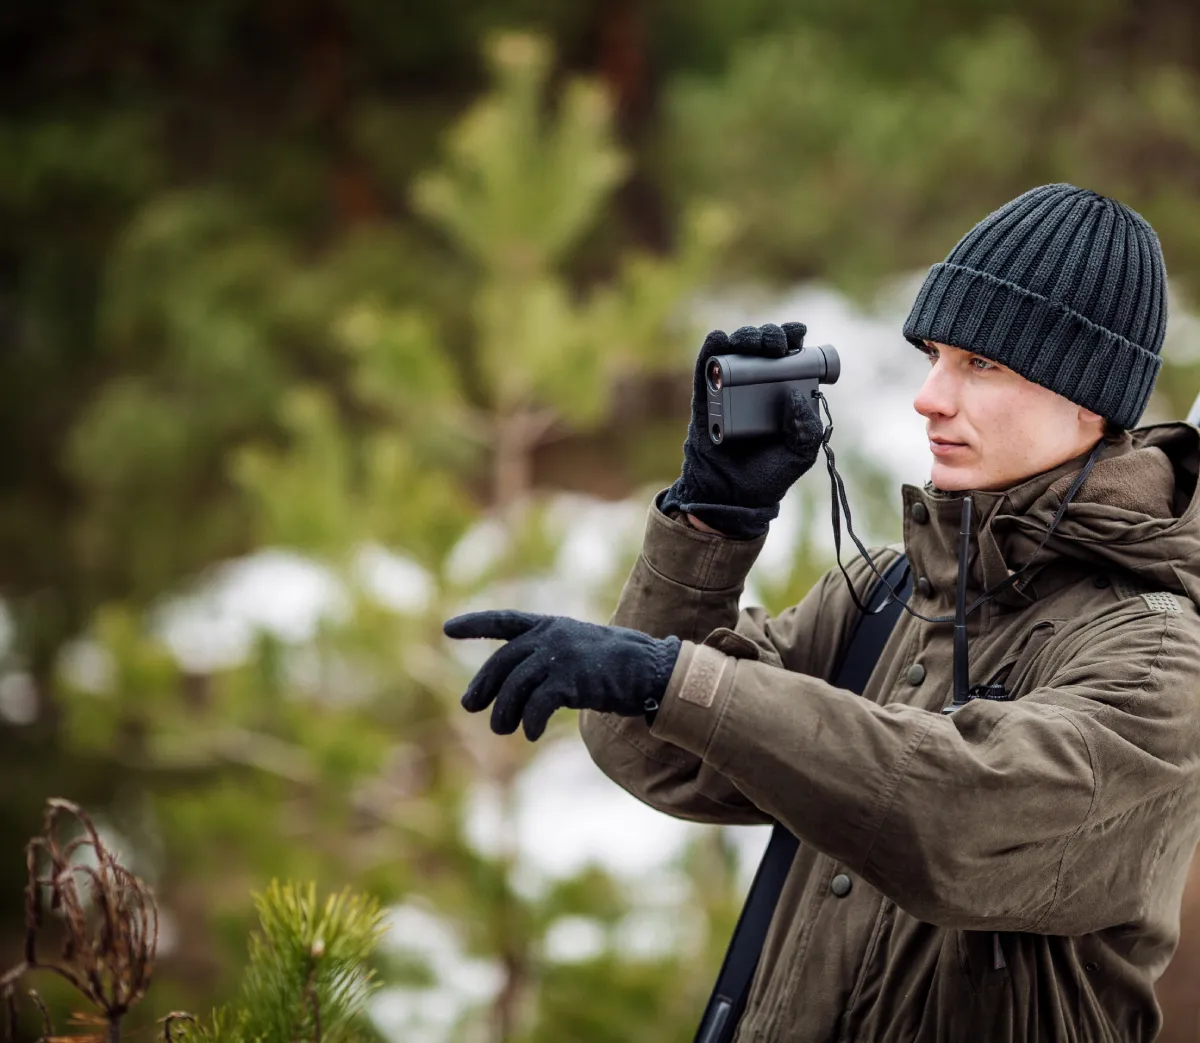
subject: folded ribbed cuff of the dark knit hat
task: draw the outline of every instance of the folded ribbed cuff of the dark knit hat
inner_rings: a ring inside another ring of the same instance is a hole
[[[1122,427],[1138,422],[1162,366],[1066,305],[950,263],[929,270],[904,335],[974,352]]]

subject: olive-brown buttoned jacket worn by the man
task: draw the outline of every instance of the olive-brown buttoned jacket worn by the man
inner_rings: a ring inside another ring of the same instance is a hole
[[[973,494],[970,598],[1028,561],[1081,464]],[[950,624],[901,615],[863,696],[834,688],[840,573],[739,612],[762,538],[650,505],[611,622],[677,635],[679,660],[653,726],[581,729],[654,808],[800,838],[739,1043],[1154,1037],[1200,837],[1198,467],[1184,424],[1102,451],[1028,585],[970,619],[971,682],[1014,700],[950,715]],[[911,605],[949,615],[960,496],[902,496]]]

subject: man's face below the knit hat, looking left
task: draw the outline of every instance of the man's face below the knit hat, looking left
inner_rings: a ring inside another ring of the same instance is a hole
[[[913,400],[946,492],[1001,490],[1090,450],[1104,420],[982,355],[925,341],[930,371]]]

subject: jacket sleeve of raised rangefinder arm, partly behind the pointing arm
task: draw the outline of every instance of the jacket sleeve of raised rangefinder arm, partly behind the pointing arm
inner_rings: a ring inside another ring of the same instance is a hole
[[[829,597],[830,589],[845,595],[841,575],[836,585],[827,576],[799,605],[776,618],[760,607],[739,612],[746,574],[764,540],[702,533],[652,503],[642,551],[610,624],[654,637],[673,634],[736,658],[823,675],[836,660],[838,643],[852,618],[846,611],[848,597],[842,598],[845,604]],[[865,588],[862,563],[857,573],[858,583]],[[814,641],[818,622],[822,640]],[[601,771],[660,811],[698,822],[772,821],[726,773],[697,753],[653,735],[641,718],[583,711],[580,731]]]

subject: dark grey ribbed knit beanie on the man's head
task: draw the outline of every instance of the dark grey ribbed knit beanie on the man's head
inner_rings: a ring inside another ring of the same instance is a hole
[[[904,324],[914,344],[974,352],[1133,427],[1162,365],[1166,266],[1154,229],[1074,185],[989,214],[925,277]]]

